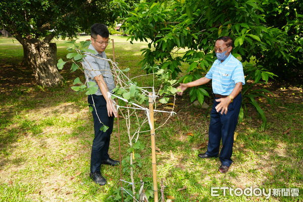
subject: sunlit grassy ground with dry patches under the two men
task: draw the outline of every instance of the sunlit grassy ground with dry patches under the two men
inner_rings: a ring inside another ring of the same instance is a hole
[[[88,37],[81,37],[85,40]],[[129,67],[130,77],[144,74],[138,62],[146,43],[130,44],[125,37],[115,39],[119,66]],[[58,58],[67,45],[56,41]],[[112,46],[107,55],[112,58]],[[61,73],[65,85],[46,89],[34,83],[31,70],[20,65],[22,46],[12,38],[0,38],[0,201],[113,201],[119,189],[119,167],[103,166],[106,186],[88,177],[93,139],[92,117],[86,96],[70,89],[81,73]],[[151,78],[140,78],[142,86]],[[158,179],[163,179],[164,195],[172,201],[302,201],[302,88],[272,83],[273,105],[259,100],[268,117],[264,130],[253,109],[248,108],[238,125],[233,161],[226,174],[217,172],[219,159],[201,160],[197,154],[207,148],[209,109],[189,104],[188,94],[177,98],[176,111],[167,125],[157,130]],[[282,87],[282,88],[281,88]],[[284,89],[285,87],[285,89]],[[211,105],[210,99],[207,103]],[[166,106],[161,106],[165,109]],[[156,114],[156,127],[165,117]],[[123,125],[123,120],[121,121]],[[122,129],[122,155],[126,157],[127,136]],[[146,127],[147,128],[147,127]],[[188,135],[192,133],[193,136]],[[136,182],[146,177],[151,185],[150,137],[142,133],[140,151],[143,165],[135,169]],[[115,125],[110,155],[118,159]],[[130,181],[128,175],[124,180]],[[127,186],[126,184],[124,184]],[[137,189],[139,184],[136,184]],[[300,188],[298,197],[211,196],[211,187]],[[129,188],[129,187],[128,187]],[[183,189],[182,189],[183,188]],[[182,189],[182,190],[180,190]],[[160,187],[159,187],[160,190]]]

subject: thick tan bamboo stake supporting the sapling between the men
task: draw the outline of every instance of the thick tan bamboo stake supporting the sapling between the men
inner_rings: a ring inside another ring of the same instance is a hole
[[[156,137],[154,126],[154,108],[153,108],[153,93],[149,92],[149,119],[151,123],[150,138],[151,138],[151,166],[153,167],[153,184],[154,184],[154,201],[158,202],[158,184],[157,184],[157,163],[156,163]]]

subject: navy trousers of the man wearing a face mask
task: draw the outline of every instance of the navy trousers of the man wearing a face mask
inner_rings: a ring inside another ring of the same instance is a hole
[[[219,155],[220,141],[222,138],[222,149],[219,159],[223,166],[230,166],[232,163],[231,155],[234,131],[238,123],[242,95],[239,93],[233,102],[229,104],[226,115],[221,115],[216,111],[215,107],[219,104],[219,102],[216,102],[216,99],[214,99],[214,105],[211,111],[209,143],[206,154],[211,157],[217,157]]]

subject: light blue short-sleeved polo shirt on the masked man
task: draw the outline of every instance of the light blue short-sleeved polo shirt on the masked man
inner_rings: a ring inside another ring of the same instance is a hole
[[[215,94],[229,95],[236,83],[245,84],[242,63],[231,54],[222,63],[216,60],[205,77],[212,79]]]

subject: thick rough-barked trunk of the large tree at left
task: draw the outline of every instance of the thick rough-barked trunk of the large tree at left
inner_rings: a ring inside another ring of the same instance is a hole
[[[57,69],[57,45],[37,39],[19,40],[23,46],[23,65],[31,67],[39,85],[53,87],[63,83]]]

